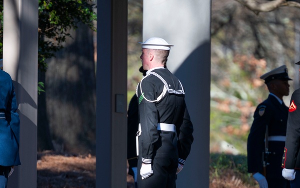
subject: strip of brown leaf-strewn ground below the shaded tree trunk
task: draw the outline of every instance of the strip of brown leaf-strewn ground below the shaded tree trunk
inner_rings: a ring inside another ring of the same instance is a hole
[[[95,187],[96,157],[61,155],[44,151],[37,155],[37,187]]]

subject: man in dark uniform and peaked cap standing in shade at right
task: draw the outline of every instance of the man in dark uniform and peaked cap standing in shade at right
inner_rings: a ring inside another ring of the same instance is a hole
[[[281,175],[288,107],[283,96],[289,94],[287,68],[282,65],[265,73],[263,79],[269,95],[260,103],[247,141],[248,172],[252,173],[260,188],[289,187],[289,182]]]

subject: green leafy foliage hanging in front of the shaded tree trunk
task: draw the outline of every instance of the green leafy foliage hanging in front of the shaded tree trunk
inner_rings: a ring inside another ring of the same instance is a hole
[[[92,1],[48,0],[38,1],[38,69],[46,71],[46,60],[63,48],[62,43],[71,37],[68,31],[79,22],[95,31],[96,14]]]

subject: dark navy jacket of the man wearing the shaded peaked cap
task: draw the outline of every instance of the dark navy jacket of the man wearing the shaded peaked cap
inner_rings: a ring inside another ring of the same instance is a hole
[[[247,141],[248,172],[262,172],[262,152],[264,151],[264,139],[266,125],[268,136],[285,136],[288,107],[272,95],[260,103],[255,112],[254,120]],[[268,165],[266,177],[282,178],[281,157],[284,149],[284,141],[269,141]]]

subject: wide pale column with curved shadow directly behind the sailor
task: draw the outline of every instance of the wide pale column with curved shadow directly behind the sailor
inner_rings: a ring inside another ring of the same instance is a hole
[[[194,142],[177,187],[209,187],[210,0],[144,0],[143,41],[165,39],[168,69],[181,81],[194,125]]]

